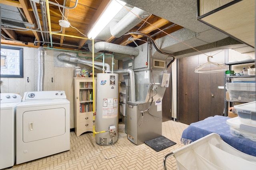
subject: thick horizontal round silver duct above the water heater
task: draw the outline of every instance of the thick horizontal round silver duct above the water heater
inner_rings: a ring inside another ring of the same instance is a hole
[[[92,51],[92,42],[88,42],[88,47],[90,51]],[[118,44],[113,43],[107,43],[107,42],[98,42],[94,44],[94,53],[97,53],[98,51],[112,51],[115,53],[122,53],[122,54],[128,54],[128,55],[134,55],[137,56],[140,53],[139,49],[135,49],[133,47],[128,46],[122,46]]]

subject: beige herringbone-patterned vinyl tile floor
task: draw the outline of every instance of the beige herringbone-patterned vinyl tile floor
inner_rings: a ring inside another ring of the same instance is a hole
[[[125,133],[125,125],[118,125],[118,141],[114,145],[100,146],[92,133],[76,137],[70,132],[70,150],[23,164],[14,165],[12,170],[163,170],[166,154],[183,147],[180,138],[188,125],[176,121],[162,123],[162,135],[177,143],[156,152],[145,143],[135,145]],[[168,170],[176,170],[176,159],[167,160]]]

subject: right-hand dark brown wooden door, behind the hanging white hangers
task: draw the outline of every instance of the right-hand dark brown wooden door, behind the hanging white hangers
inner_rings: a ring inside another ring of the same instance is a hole
[[[225,62],[225,51],[207,53],[213,56],[214,63]],[[199,55],[199,64],[207,62],[207,56]],[[210,65],[211,68],[217,66]],[[224,111],[224,72],[199,74],[199,121],[214,115],[223,115]]]

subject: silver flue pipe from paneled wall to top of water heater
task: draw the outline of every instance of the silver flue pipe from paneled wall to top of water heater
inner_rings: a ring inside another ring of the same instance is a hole
[[[74,57],[74,56],[68,55],[68,54],[59,54],[58,59],[60,61],[68,61],[68,62],[71,62],[71,63],[92,64],[91,60],[80,59],[78,57]],[[110,65],[107,64],[107,63],[103,64],[103,63],[94,61],[94,65],[104,66],[104,67],[106,67],[105,72],[107,72],[107,73],[111,72],[110,71]],[[102,69],[103,71],[104,71],[104,67]]]

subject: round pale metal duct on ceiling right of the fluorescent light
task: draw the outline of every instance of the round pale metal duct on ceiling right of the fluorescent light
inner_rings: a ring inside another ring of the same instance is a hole
[[[121,37],[125,33],[127,33],[131,28],[135,27],[142,21],[142,19],[138,18],[139,16],[142,19],[145,19],[149,16],[149,13],[141,10],[140,8],[132,8],[132,10],[122,18],[118,23],[110,23],[110,33],[114,37]]]

